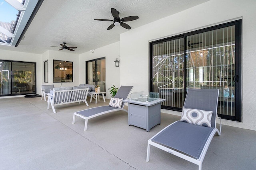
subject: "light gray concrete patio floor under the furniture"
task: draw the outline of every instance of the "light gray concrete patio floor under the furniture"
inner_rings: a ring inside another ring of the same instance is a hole
[[[198,166],[151,147],[147,141],[179,116],[161,113],[161,125],[150,132],[128,126],[125,111],[108,113],[88,121],[73,113],[108,105],[109,100],[56,106],[47,109],[41,98],[0,99],[0,169],[41,170],[197,170]],[[127,106],[125,106],[127,109]],[[256,169],[256,131],[222,125],[202,164],[203,170]]]

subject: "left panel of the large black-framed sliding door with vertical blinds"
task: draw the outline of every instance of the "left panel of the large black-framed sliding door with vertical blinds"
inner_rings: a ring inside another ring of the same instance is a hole
[[[166,108],[182,108],[184,101],[184,38],[152,45],[152,91],[159,92]]]

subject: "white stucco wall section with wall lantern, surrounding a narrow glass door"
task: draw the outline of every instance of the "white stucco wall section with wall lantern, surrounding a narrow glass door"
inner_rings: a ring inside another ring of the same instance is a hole
[[[120,68],[122,68],[122,59],[120,59],[119,49],[119,42],[116,42],[95,49],[94,53],[88,51],[79,55],[79,83],[86,83],[86,61],[106,57],[106,98],[110,99],[111,96],[108,88],[110,88],[112,84],[114,84],[116,87],[120,87],[120,85],[126,85],[120,84]],[[121,60],[119,67],[116,67],[114,64],[116,58]]]

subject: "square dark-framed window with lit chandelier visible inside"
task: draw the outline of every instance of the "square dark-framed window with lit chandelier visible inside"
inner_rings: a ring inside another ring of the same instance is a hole
[[[53,61],[53,82],[73,82],[73,62]]]

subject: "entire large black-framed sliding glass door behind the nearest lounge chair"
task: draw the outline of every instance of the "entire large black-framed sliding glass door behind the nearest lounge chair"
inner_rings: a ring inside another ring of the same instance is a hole
[[[241,121],[241,20],[150,43],[150,91],[182,110],[188,88],[219,89],[218,116]]]

